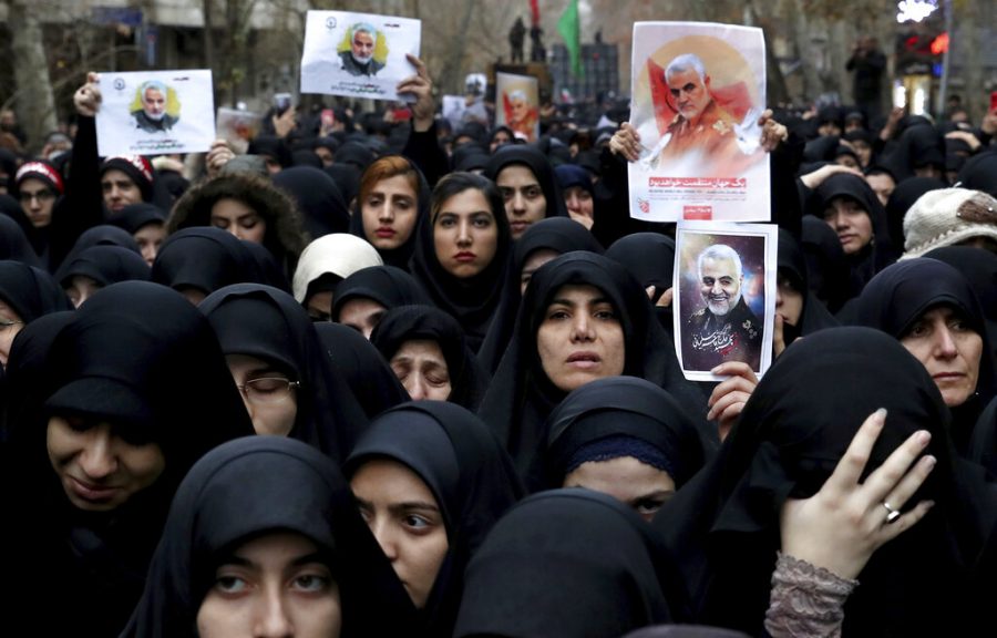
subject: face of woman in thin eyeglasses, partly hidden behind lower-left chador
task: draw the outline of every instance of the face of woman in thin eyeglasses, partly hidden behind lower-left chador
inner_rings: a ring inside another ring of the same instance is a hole
[[[226,354],[225,360],[256,433],[287,436],[298,416],[297,391],[291,385],[297,380],[248,354]]]

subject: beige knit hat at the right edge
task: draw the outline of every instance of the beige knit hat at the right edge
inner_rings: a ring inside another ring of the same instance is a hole
[[[997,243],[997,199],[979,191],[941,188],[922,195],[904,217],[904,255],[921,257],[974,237]]]

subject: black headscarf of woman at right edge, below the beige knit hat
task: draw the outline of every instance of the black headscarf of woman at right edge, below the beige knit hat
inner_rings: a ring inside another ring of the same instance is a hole
[[[952,438],[956,449],[965,453],[977,418],[997,394],[986,318],[969,281],[962,272],[936,259],[922,257],[900,261],[876,275],[862,291],[855,308],[856,323],[876,328],[900,340],[915,321],[936,306],[958,310],[984,342],[976,393],[962,405],[952,408]]]

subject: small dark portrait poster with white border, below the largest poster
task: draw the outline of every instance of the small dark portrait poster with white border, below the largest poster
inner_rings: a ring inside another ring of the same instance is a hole
[[[772,362],[779,227],[682,222],[676,228],[675,351],[687,379],[743,361],[761,375]]]

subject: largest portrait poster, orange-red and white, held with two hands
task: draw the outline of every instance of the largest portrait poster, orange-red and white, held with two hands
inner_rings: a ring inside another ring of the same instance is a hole
[[[703,22],[634,24],[630,216],[768,222],[762,30]]]

